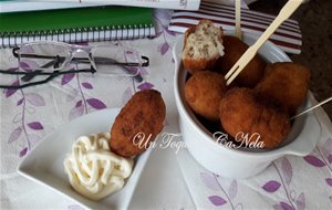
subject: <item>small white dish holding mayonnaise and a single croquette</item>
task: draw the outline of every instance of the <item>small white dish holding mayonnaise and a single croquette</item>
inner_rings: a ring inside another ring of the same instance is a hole
[[[64,172],[63,161],[79,136],[111,130],[120,109],[103,109],[79,117],[60,126],[53,134],[43,139],[20,162],[20,175],[41,183],[87,209],[127,209],[144,166],[152,149],[147,149],[137,158],[133,174],[120,191],[100,200],[89,200],[73,190]]]

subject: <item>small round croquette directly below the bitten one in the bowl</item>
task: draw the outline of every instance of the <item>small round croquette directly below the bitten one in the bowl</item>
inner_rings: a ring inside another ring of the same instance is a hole
[[[226,90],[221,74],[197,72],[185,84],[185,98],[194,113],[209,120],[219,120],[219,103]]]

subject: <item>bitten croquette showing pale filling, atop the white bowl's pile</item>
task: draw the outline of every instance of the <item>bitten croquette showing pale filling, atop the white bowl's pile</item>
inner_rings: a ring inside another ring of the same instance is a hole
[[[210,20],[200,20],[185,33],[181,60],[191,74],[212,69],[224,55],[222,29],[214,27]]]

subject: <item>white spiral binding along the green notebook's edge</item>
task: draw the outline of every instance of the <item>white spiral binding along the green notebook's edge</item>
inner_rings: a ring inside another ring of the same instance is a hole
[[[153,24],[112,25],[48,31],[0,32],[1,46],[13,48],[27,42],[59,41],[68,43],[103,42],[155,36]]]

